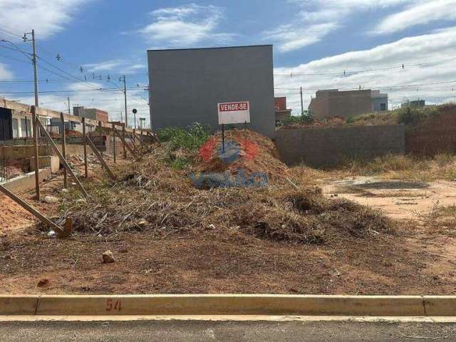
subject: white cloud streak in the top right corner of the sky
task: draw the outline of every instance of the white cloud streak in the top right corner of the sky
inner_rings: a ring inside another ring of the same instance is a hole
[[[387,16],[372,33],[385,34],[434,21],[456,19],[456,0],[432,0],[413,4],[407,9]]]

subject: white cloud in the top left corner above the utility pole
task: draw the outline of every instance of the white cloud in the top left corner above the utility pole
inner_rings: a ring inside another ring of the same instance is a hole
[[[0,0],[0,35],[22,36],[35,29],[37,39],[63,30],[81,4],[89,0]],[[11,38],[11,36],[9,36]]]

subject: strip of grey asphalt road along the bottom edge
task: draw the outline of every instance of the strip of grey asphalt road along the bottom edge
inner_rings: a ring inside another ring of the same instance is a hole
[[[456,323],[356,322],[14,322],[0,341],[456,341]]]

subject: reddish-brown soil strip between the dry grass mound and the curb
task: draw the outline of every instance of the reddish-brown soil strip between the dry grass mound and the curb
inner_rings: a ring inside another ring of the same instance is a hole
[[[0,292],[455,294],[454,271],[436,266],[447,258],[436,254],[429,237],[405,242],[380,237],[317,247],[217,230],[60,240],[28,231],[1,239]],[[114,264],[102,264],[107,249]]]

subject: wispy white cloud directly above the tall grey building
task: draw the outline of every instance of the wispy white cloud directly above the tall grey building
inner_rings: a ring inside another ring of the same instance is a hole
[[[140,29],[148,41],[165,46],[194,46],[196,43],[230,41],[232,33],[219,33],[217,26],[223,9],[217,6],[189,4],[181,7],[157,9],[150,13],[152,23]]]

